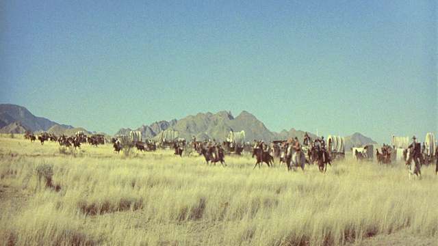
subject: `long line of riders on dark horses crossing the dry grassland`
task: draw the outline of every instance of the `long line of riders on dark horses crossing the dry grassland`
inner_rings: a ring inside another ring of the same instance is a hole
[[[57,141],[60,146],[65,146],[68,148],[81,148],[81,144],[88,143],[90,146],[97,147],[100,144],[105,144],[104,135],[94,134],[91,136],[86,135],[83,131],[77,132],[74,136],[60,135],[56,136],[54,134],[42,133],[41,135],[34,135],[29,133],[25,135],[25,138],[30,139],[34,142],[38,139],[43,145],[44,141]],[[407,164],[409,172],[417,176],[421,175],[420,168],[422,165],[429,165],[433,163],[436,159],[436,174],[438,174],[438,147],[435,144],[435,151],[430,154],[430,150],[426,151],[427,144],[421,145],[415,141],[415,137],[412,138],[413,142],[408,146],[408,148],[403,149],[403,159]],[[219,143],[214,140],[213,142],[205,139],[204,141],[196,141],[196,138],[192,138],[190,144],[187,144],[185,139],[173,139],[171,141],[155,141],[153,139],[146,139],[142,141],[140,139],[133,137],[118,136],[112,138],[112,144],[114,147],[114,152],[119,153],[124,148],[136,148],[138,151],[155,151],[158,148],[174,148],[175,155],[182,156],[183,152],[187,148],[192,148],[198,152],[198,154],[205,157],[207,164],[216,165],[216,163],[221,163],[221,165],[226,166],[225,154],[242,154],[242,152],[252,151],[252,157],[256,159],[256,163],[253,168],[261,167],[263,163],[266,163],[268,167],[274,165],[274,158],[278,158],[280,165],[283,163],[287,165],[287,170],[292,170],[296,168],[305,169],[305,164],[316,163],[320,172],[326,172],[327,165],[331,165],[331,161],[337,158],[344,158],[345,152],[337,152],[331,146],[331,141],[329,141],[329,146],[326,146],[324,137],[322,139],[311,139],[307,133],[305,134],[304,141],[302,144],[298,139],[292,138],[282,141],[271,141],[269,144],[263,141],[254,140],[253,145],[237,144],[234,140],[224,141]],[[434,137],[435,142],[435,137]],[[435,142],[436,143],[436,142]],[[224,146],[224,147],[222,147]],[[352,151],[357,159],[357,161],[365,161],[369,159],[368,147],[365,148],[352,148]],[[395,146],[383,145],[379,152],[376,148],[375,156],[378,163],[391,163],[394,159],[394,154],[396,154]]]

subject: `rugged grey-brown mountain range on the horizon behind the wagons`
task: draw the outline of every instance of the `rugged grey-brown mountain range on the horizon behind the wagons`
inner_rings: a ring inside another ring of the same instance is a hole
[[[289,131],[283,130],[281,133],[269,131],[263,122],[257,120],[255,116],[247,111],[242,111],[237,117],[234,117],[230,111],[220,111],[218,113],[198,113],[196,115],[188,115],[180,120],[162,120],[153,122],[149,125],[142,125],[136,129],[120,128],[114,135],[104,134],[107,138],[116,137],[117,135],[129,135],[130,131],[140,131],[143,139],[152,139],[159,135],[162,131],[175,130],[178,131],[179,137],[187,140],[196,137],[197,140],[218,139],[224,141],[230,131],[240,132],[245,131],[246,141],[253,140],[273,141],[298,137],[302,141],[305,131],[295,130],[291,128]],[[33,115],[25,107],[12,104],[0,104],[0,133],[53,133],[55,135],[74,135],[77,131],[84,131],[92,134],[86,129],[70,125],[58,124],[47,118],[37,117]],[[315,138],[316,135],[309,133],[310,137]],[[342,137],[342,136],[341,136]],[[346,150],[352,146],[365,146],[367,144],[376,143],[369,137],[355,133],[345,137]]]

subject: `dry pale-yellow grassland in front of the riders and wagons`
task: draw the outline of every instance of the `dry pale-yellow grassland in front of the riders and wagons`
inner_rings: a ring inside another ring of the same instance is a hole
[[[225,159],[3,135],[0,244],[438,245],[433,166],[409,180],[404,163],[346,159],[321,174]]]

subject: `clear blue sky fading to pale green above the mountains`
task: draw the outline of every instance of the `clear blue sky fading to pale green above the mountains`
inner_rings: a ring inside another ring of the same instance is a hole
[[[112,2],[1,1],[0,102],[110,135],[223,110],[276,132],[438,133],[435,0]]]

